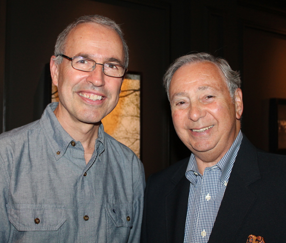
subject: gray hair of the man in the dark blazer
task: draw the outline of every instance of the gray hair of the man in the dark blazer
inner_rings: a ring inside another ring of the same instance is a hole
[[[163,78],[163,83],[167,91],[168,99],[170,100],[169,87],[174,73],[184,65],[198,62],[212,62],[215,64],[223,73],[223,77],[225,78],[229,88],[229,93],[231,97],[234,98],[235,90],[240,88],[241,85],[239,71],[233,71],[229,66],[227,60],[223,58],[216,58],[209,53],[201,52],[179,57],[170,65]]]

